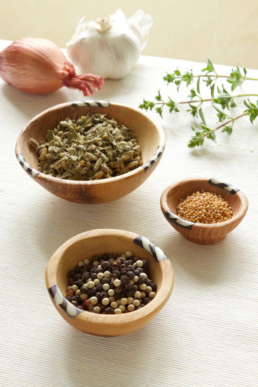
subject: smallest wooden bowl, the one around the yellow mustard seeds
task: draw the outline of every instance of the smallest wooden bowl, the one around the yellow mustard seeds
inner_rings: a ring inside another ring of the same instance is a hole
[[[189,222],[177,216],[176,207],[179,200],[201,190],[215,192],[215,194],[221,195],[223,199],[227,200],[232,207],[232,218],[221,223],[203,224]],[[186,239],[201,245],[213,245],[224,239],[228,233],[238,226],[247,209],[248,200],[243,192],[214,178],[180,180],[169,185],[161,195],[161,210],[167,221]]]

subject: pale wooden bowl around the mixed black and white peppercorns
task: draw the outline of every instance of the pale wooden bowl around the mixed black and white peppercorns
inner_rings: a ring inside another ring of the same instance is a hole
[[[85,258],[103,253],[124,254],[131,250],[139,259],[149,261],[150,278],[157,284],[156,296],[143,308],[120,315],[103,315],[82,311],[66,300],[67,272]],[[46,287],[56,310],[70,325],[95,336],[120,336],[140,329],[166,304],[174,286],[173,267],[153,242],[129,231],[98,229],[74,236],[51,257],[46,267]]]

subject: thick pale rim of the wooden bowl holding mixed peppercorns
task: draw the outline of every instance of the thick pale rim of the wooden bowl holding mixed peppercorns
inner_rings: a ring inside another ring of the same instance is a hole
[[[142,237],[141,235],[139,235],[137,233],[133,233],[131,231],[120,230],[120,229],[93,229],[93,230],[85,231],[84,233],[80,233],[78,235],[73,236],[68,241],[63,243],[63,245],[61,245],[56,250],[56,252],[52,255],[52,257],[50,258],[50,260],[46,266],[45,281],[46,281],[46,288],[48,289],[48,293],[50,293],[49,289],[52,286],[57,285],[57,288],[58,288],[57,278],[56,278],[57,271],[53,270],[53,267],[55,267],[55,265],[58,265],[60,263],[61,257],[63,255],[63,253],[67,250],[67,248],[71,247],[74,243],[76,243],[79,240],[91,238],[92,236],[99,237],[101,235],[105,235],[105,236],[106,235],[110,235],[110,236],[116,235],[116,236],[120,236],[122,238],[126,238],[126,239],[128,238],[128,239],[130,239],[130,241],[133,241],[135,238],[137,238],[139,236]],[[145,238],[145,239],[150,241],[147,238]],[[153,242],[151,242],[151,243],[155,247],[157,247]],[[82,317],[84,317],[85,320],[92,322],[94,324],[101,324],[101,325],[114,324],[114,326],[115,326],[115,325],[121,324],[121,323],[124,324],[127,322],[136,321],[138,319],[141,319],[142,317],[153,315],[153,313],[157,314],[159,312],[159,310],[161,310],[161,308],[167,303],[167,301],[172,293],[173,286],[174,286],[173,266],[172,266],[169,258],[166,256],[166,254],[159,247],[157,247],[157,248],[159,249],[159,251],[161,251],[164,254],[165,258],[158,263],[160,265],[159,267],[160,267],[161,274],[162,274],[161,286],[159,288],[157,295],[152,299],[151,302],[149,302],[147,305],[145,305],[144,308],[134,310],[133,312],[130,312],[130,313],[121,313],[120,315],[102,315],[102,314],[97,314],[97,313],[89,313],[86,310],[83,310],[79,313],[80,319]],[[144,250],[147,251],[145,248],[144,248]],[[149,255],[150,255],[150,259],[154,259],[154,257],[150,253],[149,253]],[[154,261],[157,263],[157,261],[155,259],[154,259]],[[170,269],[170,272],[168,274],[167,270],[169,270],[169,269]],[[53,275],[53,273],[54,273],[54,275]],[[49,279],[50,276],[53,277],[51,280]],[[54,281],[53,281],[53,279],[54,279]],[[49,281],[50,281],[50,283],[48,283]],[[50,285],[52,282],[54,282],[55,284],[48,287],[48,285]],[[60,291],[60,289],[59,289],[59,291]],[[60,291],[60,293],[62,294],[61,291]],[[67,301],[67,302],[69,302],[69,301]]]

